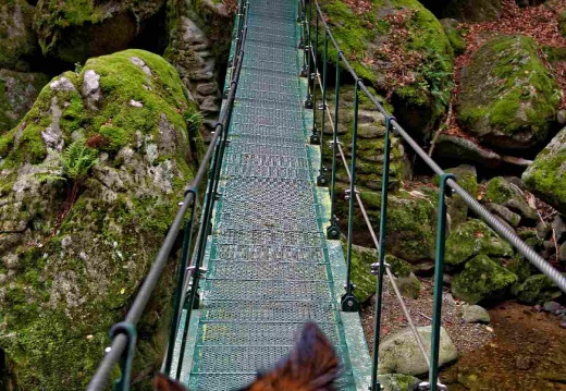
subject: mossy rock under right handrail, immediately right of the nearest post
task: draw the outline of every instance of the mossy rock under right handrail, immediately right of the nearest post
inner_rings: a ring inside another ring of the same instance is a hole
[[[448,235],[446,240],[446,264],[460,265],[480,254],[510,257],[513,247],[480,220],[469,220],[457,227]]]

